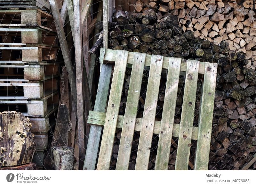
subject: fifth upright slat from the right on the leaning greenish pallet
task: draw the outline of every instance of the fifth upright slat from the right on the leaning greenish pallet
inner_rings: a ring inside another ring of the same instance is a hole
[[[116,170],[128,170],[146,54],[134,53]]]

